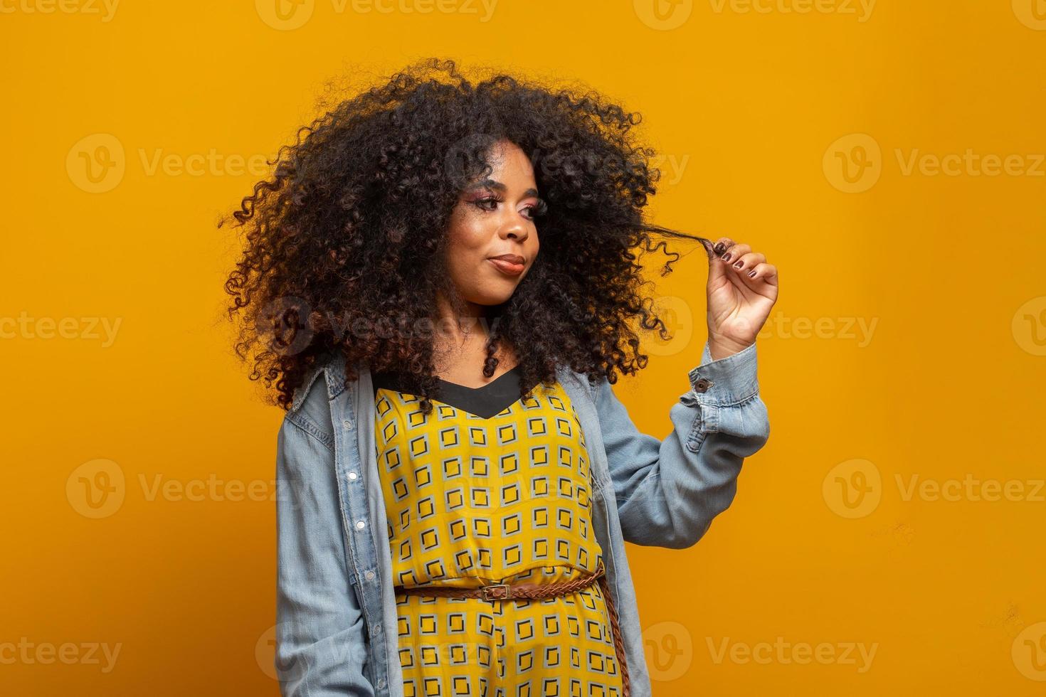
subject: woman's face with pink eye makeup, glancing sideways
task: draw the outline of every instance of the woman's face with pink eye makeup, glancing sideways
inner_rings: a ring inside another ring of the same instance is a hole
[[[507,140],[495,143],[488,159],[488,179],[461,191],[448,229],[451,280],[463,300],[478,305],[508,300],[539,247],[533,215],[541,200],[530,160]]]

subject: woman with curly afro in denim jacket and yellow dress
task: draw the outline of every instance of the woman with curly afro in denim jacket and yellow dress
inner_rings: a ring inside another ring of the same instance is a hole
[[[233,214],[236,349],[287,410],[285,695],[651,694],[624,542],[687,548],[733,499],[769,437],[777,275],[643,220],[638,120],[430,60],[304,129]],[[641,292],[652,234],[709,261],[708,342],[663,440],[611,389],[646,364],[634,323],[667,338]]]

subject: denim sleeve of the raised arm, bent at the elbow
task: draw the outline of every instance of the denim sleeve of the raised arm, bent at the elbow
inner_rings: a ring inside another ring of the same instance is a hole
[[[668,411],[663,440],[641,433],[602,378],[596,410],[624,540],[685,549],[733,502],[744,459],[770,437],[759,398],[755,344],[701,364],[687,374],[690,390]]]

